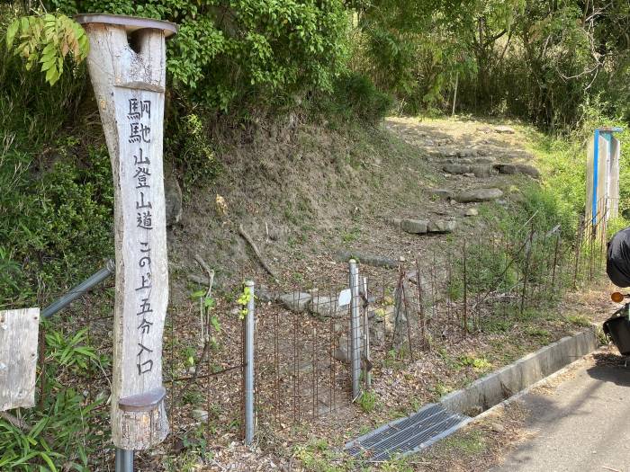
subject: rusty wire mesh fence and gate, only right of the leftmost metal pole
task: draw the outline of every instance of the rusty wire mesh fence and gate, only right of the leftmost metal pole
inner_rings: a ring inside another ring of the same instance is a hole
[[[560,225],[545,227],[535,215],[516,230],[401,261],[380,277],[359,274],[358,293],[350,298],[343,296],[351,288],[349,273],[320,280],[317,289],[263,290],[257,310],[258,422],[274,428],[312,421],[350,405],[357,399],[353,358],[360,360],[365,390],[374,366],[392,353],[413,362],[436,340],[457,343],[489,324],[509,325],[549,309],[565,290],[601,272],[603,221],[583,222],[571,235]]]

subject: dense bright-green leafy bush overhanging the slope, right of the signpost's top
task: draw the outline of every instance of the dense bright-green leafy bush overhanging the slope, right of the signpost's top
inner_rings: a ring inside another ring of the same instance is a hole
[[[343,68],[343,2],[52,0],[60,13],[118,13],[176,22],[167,72],[178,94],[211,111],[302,100],[331,90]]]

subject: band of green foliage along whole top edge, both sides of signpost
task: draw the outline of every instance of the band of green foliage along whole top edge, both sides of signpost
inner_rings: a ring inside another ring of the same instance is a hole
[[[386,94],[399,99],[401,110],[446,111],[455,83],[459,109],[507,112],[547,129],[571,127],[581,119],[581,106],[601,95],[610,96],[606,114],[630,117],[630,81],[624,80],[630,74],[630,6],[623,0],[609,2],[597,13],[592,4],[585,7],[575,0],[41,4],[51,13],[12,22],[7,39],[13,41],[20,33],[18,49],[30,67],[43,55],[50,81],[61,72],[59,58],[69,51],[80,60],[86,52],[85,36],[64,15],[159,18],[179,26],[167,46],[167,70],[176,94],[190,105],[236,111],[246,120],[255,116],[255,108],[285,110],[335,89],[342,108],[347,108],[346,89],[373,97],[356,108],[362,120],[372,108],[379,111],[368,113],[368,120],[381,114]],[[55,38],[53,55],[52,49],[44,49]],[[347,68],[366,80],[348,74]],[[368,90],[370,82],[385,95]]]

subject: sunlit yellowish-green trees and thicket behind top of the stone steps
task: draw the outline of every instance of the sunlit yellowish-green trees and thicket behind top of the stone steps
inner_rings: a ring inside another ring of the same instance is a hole
[[[611,97],[609,116],[630,107],[630,6],[578,1],[378,0],[358,10],[350,65],[394,94],[401,109],[509,113],[568,129],[581,105]]]

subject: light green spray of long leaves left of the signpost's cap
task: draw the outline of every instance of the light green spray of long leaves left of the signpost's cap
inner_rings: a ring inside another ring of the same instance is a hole
[[[79,64],[87,56],[89,43],[81,26],[64,14],[23,16],[6,30],[6,47],[25,60],[26,70],[41,64],[46,82],[55,85],[63,74],[68,54]]]

